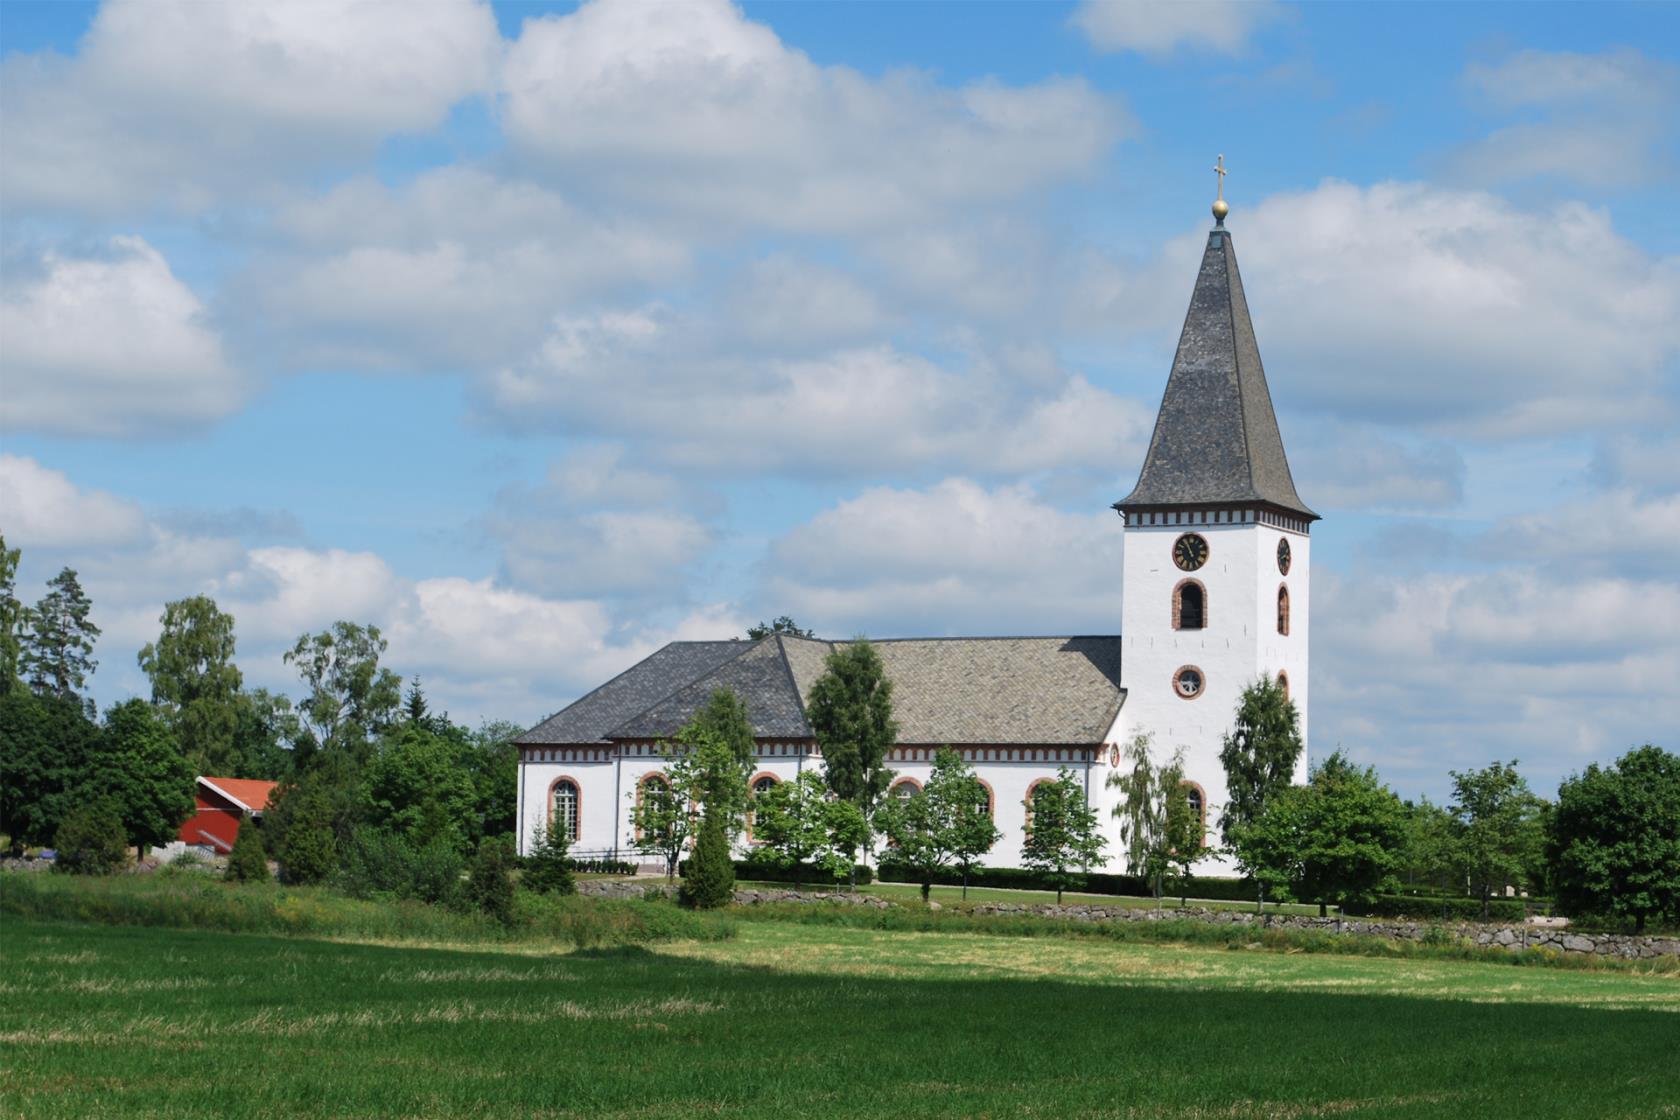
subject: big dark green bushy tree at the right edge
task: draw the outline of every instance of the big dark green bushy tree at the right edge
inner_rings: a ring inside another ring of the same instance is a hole
[[[1547,856],[1566,913],[1680,924],[1680,756],[1645,744],[1557,789]]]

